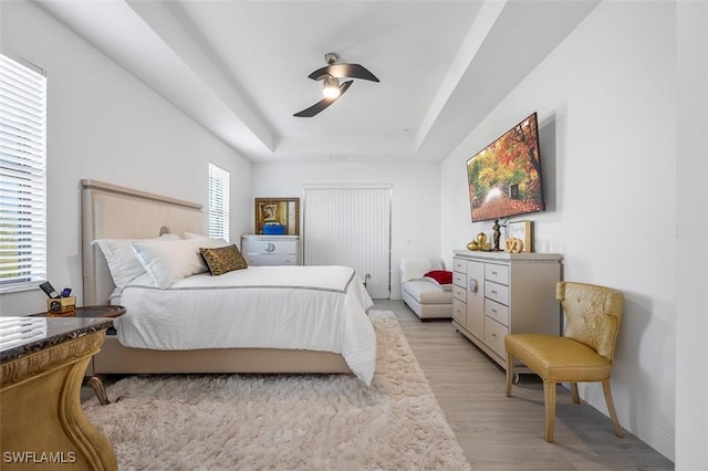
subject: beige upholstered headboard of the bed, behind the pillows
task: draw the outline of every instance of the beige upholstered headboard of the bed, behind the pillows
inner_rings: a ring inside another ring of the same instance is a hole
[[[83,305],[108,304],[115,285],[96,239],[204,232],[201,205],[96,180],[81,180]]]

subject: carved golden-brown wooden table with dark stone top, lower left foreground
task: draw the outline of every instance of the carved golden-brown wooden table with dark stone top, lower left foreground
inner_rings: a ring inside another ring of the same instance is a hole
[[[111,443],[83,414],[81,385],[110,318],[0,317],[3,470],[116,470]]]

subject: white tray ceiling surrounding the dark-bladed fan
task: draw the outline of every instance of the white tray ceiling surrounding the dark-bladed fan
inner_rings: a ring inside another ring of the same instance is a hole
[[[442,159],[598,2],[35,1],[253,161],[398,163]],[[294,117],[327,52],[381,83]]]

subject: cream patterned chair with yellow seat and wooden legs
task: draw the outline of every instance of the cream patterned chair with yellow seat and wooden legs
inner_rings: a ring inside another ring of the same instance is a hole
[[[563,336],[513,334],[507,348],[507,396],[511,396],[513,359],[518,358],[543,379],[545,440],[553,441],[555,385],[570,383],[573,402],[580,404],[577,383],[602,381],[610,417],[617,437],[623,437],[610,390],[610,373],[624,296],[593,284],[560,282],[555,297],[565,312]]]

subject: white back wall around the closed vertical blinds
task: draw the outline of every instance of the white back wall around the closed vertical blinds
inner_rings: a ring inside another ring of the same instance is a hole
[[[439,176],[437,164],[254,164],[253,196],[302,198],[305,185],[393,185],[391,297],[399,300],[400,259],[439,254]]]

